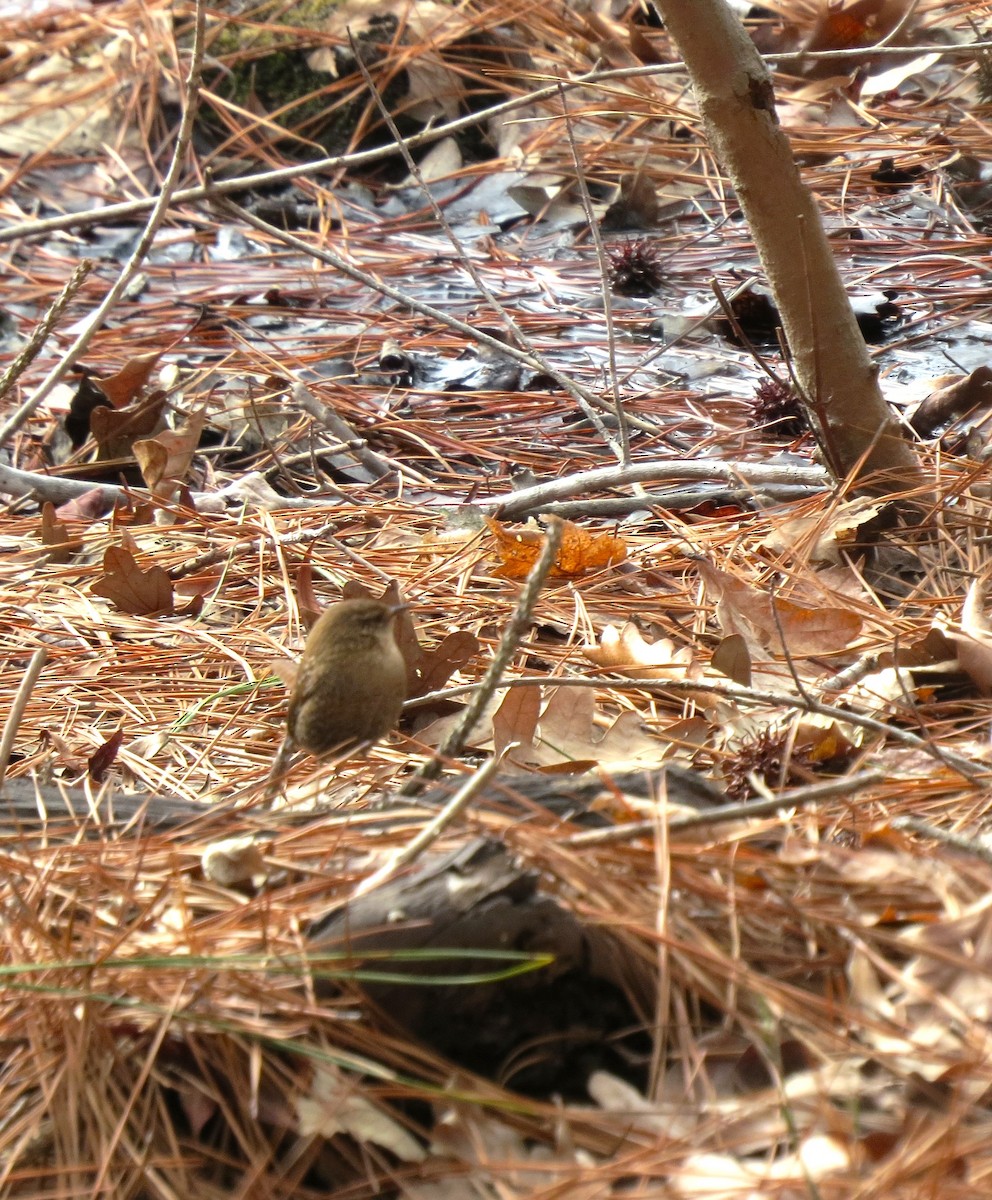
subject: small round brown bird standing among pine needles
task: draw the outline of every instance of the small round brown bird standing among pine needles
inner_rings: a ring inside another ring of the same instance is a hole
[[[311,754],[375,742],[399,721],[407,666],[393,622],[407,605],[341,600],[309,631],[289,701],[291,740]]]

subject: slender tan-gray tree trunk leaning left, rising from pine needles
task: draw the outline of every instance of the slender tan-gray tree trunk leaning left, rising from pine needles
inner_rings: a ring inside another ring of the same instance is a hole
[[[710,148],[768,276],[820,450],[874,492],[925,484],[878,385],[850,301],[778,125],[771,77],[726,0],[655,0],[689,68]]]

